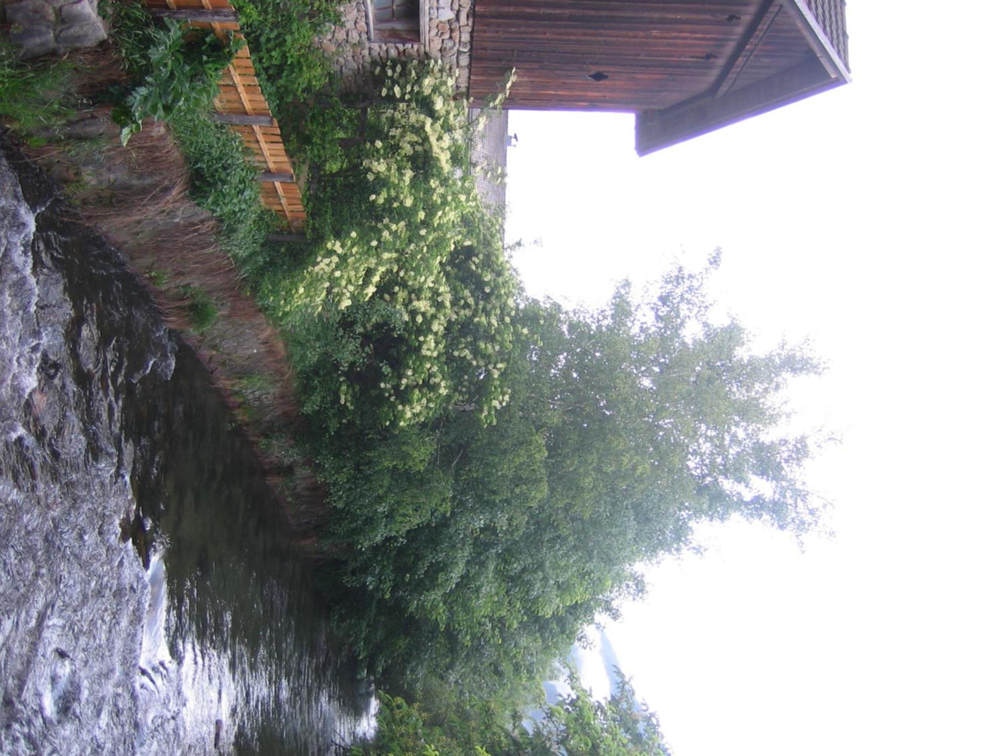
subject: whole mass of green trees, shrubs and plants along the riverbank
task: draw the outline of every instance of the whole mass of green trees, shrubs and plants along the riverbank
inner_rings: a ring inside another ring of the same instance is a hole
[[[787,345],[755,353],[739,324],[711,316],[717,256],[646,298],[620,286],[597,310],[526,295],[477,197],[450,71],[385,64],[370,92],[348,95],[312,41],[332,11],[236,6],[307,176],[307,242],[265,241],[255,168],[208,116],[229,44],[117,4],[122,124],[128,137],[144,117],[167,120],[194,197],[282,329],[301,443],[328,490],[335,621],[390,691],[386,734],[423,717],[442,728],[422,735],[427,751],[385,752],[462,752],[444,730],[453,712],[505,728],[471,723],[466,752],[624,752],[561,743],[575,726],[559,713],[533,744],[510,715],[587,623],[643,592],[639,565],[690,547],[696,523],[814,526],[811,444],[777,428],[781,389],[818,364]],[[593,706],[576,688],[561,710],[604,734]]]

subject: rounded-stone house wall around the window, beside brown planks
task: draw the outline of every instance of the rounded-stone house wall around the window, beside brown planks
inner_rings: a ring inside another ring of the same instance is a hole
[[[343,24],[331,29],[322,41],[333,54],[337,71],[348,89],[361,89],[368,74],[379,62],[392,59],[430,57],[444,60],[458,71],[460,92],[469,89],[469,67],[473,35],[474,0],[420,0],[425,18],[416,42],[383,42],[370,38],[365,0],[343,6]]]

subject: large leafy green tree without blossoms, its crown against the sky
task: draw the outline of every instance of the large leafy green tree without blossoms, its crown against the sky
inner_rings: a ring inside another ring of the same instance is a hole
[[[698,521],[815,523],[808,439],[775,428],[780,390],[817,363],[787,346],[755,354],[737,323],[714,323],[706,275],[675,269],[645,303],[621,286],[598,311],[525,301],[496,423],[445,409],[411,431],[409,475],[365,451],[399,432],[354,437],[329,469],[331,484],[357,481],[331,485],[338,612],[375,668],[394,661],[407,686],[535,679],[597,613],[642,592],[635,564],[686,547]],[[398,498],[362,507],[357,488],[390,474]],[[436,503],[410,499],[428,476]]]

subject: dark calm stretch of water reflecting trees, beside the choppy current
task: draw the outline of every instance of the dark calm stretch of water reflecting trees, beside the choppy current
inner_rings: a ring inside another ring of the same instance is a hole
[[[197,749],[335,751],[370,727],[370,697],[340,654],[310,570],[188,350],[162,391],[157,402],[124,401],[143,450],[134,492],[156,533],[141,688],[166,706],[145,729],[176,713]]]

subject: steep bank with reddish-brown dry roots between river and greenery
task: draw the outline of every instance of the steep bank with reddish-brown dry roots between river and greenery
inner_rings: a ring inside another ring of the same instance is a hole
[[[114,69],[107,52],[86,54],[82,71]],[[146,123],[123,147],[110,109],[86,106],[29,141],[31,161],[126,256],[164,320],[200,355],[255,444],[298,538],[320,553],[323,493],[294,444],[299,420],[283,344],[220,248],[217,222],[187,198],[184,159],[164,125]],[[212,316],[197,322],[198,307]]]

